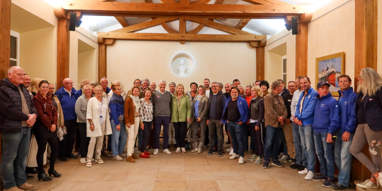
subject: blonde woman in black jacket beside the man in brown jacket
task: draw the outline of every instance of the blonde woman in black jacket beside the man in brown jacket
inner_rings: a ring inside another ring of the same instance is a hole
[[[255,164],[260,164],[262,162],[262,155],[264,152],[263,144],[263,132],[264,124],[262,123],[264,119],[264,100],[262,99],[263,93],[259,86],[252,86],[251,89],[252,100],[249,103],[249,131],[251,132],[251,137],[255,139],[254,144],[254,154],[250,157],[249,161],[254,161]]]

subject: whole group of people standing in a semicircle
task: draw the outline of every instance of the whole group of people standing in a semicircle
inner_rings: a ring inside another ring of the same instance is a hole
[[[206,78],[201,86],[191,83],[188,92],[183,84],[173,82],[166,91],[164,80],[156,90],[149,79],[135,79],[125,92],[121,81],[109,88],[106,78],[100,83],[84,79],[76,91],[73,81],[65,78],[55,92],[53,84],[31,80],[22,68],[13,66],[0,82],[0,97],[5,100],[0,105],[3,188],[36,189],[26,183],[33,178],[27,173],[34,167],[39,180],[60,177],[54,168],[56,159],[80,156],[80,163],[92,167],[92,161],[104,163],[101,156],[107,152],[117,161],[150,158],[159,153],[162,130],[165,154],[171,154],[168,148],[173,141],[176,154],[188,149],[200,154],[208,148],[207,155],[217,152],[221,157],[224,127],[227,144],[231,143],[229,159],[238,159],[239,164],[248,152],[248,160],[263,163],[263,168],[291,163],[291,168],[306,175],[305,180],[324,181],[322,186],[342,190],[349,187],[353,155],[372,173],[357,186],[378,188],[382,186],[382,79],[375,70],[364,68],[358,80],[356,94],[350,76],[339,76],[338,100],[330,94],[331,84],[320,82],[315,90],[308,76],[287,84],[281,79],[271,85],[263,80],[246,87],[238,79],[223,86]],[[75,142],[78,156],[73,154]],[[366,143],[372,161],[361,152]],[[139,156],[134,154],[135,146]],[[320,174],[315,174],[316,156]],[[47,165],[49,176],[44,171]]]

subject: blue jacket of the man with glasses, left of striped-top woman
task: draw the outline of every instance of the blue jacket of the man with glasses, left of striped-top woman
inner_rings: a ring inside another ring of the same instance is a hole
[[[77,119],[76,110],[74,109],[78,96],[76,95],[76,89],[71,89],[71,96],[65,91],[64,87],[61,87],[54,93],[57,95],[58,100],[61,102],[62,112],[64,114],[64,120]]]

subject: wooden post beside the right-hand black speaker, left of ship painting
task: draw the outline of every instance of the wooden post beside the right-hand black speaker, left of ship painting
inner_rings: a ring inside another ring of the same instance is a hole
[[[308,75],[308,23],[299,23],[296,35],[296,77],[306,75]]]

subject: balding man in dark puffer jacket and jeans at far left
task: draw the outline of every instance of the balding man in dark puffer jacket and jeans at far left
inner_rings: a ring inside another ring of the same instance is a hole
[[[31,131],[37,118],[28,90],[23,88],[24,70],[18,66],[8,69],[8,78],[0,82],[0,133],[2,160],[0,176],[4,190],[34,190],[26,182],[25,167],[31,140]]]

